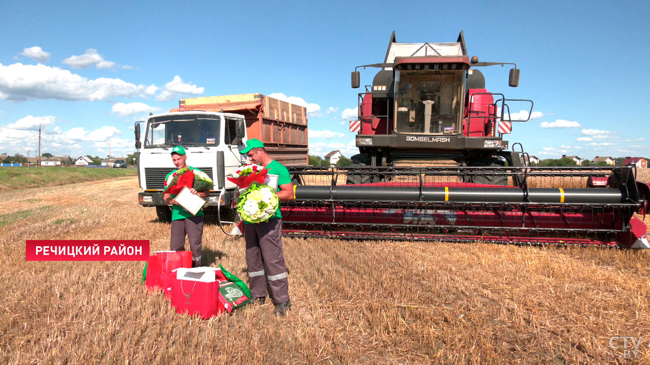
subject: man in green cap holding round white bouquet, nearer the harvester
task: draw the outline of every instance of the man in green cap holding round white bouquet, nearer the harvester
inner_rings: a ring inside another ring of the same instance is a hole
[[[265,166],[270,175],[278,175],[278,199],[280,201],[293,199],[293,184],[289,170],[266,153],[264,144],[260,140],[255,138],[248,140],[246,147],[240,153],[242,155],[245,153],[253,164]],[[273,302],[276,305],[275,314],[278,316],[284,316],[291,308],[281,235],[282,215],[279,206],[276,214],[268,221],[244,224],[251,301],[261,304],[265,302],[266,281],[268,281]],[[267,271],[265,271],[265,266]]]

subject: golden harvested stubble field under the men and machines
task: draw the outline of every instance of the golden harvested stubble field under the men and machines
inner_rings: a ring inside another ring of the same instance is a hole
[[[650,256],[618,249],[285,238],[294,309],[200,320],[140,284],[143,262],[26,262],[27,239],[145,239],[169,225],[137,179],[0,193],[3,363],[619,362],[643,336]],[[244,244],[207,224],[204,260],[245,278]]]

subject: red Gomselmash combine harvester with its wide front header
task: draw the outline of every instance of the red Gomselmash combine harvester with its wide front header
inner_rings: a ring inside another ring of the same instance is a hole
[[[634,216],[650,186],[632,166],[531,167],[508,150],[506,99],[488,92],[463,33],[443,44],[397,43],[359,94],[359,155],[347,168],[289,167],[300,179],[283,203],[289,236],[649,248]],[[510,70],[517,86],[519,69]],[[359,71],[352,87],[359,87]],[[526,121],[526,120],[519,120]],[[521,158],[523,157],[523,159]],[[452,166],[431,167],[441,161]],[[296,178],[294,177],[294,180]]]

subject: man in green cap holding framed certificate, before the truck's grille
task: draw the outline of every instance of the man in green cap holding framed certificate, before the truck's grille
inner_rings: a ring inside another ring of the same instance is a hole
[[[177,145],[172,149],[172,161],[176,170],[171,171],[164,178],[165,181],[178,170],[188,168],[190,170],[198,170],[192,166],[187,166],[187,155],[183,146]],[[210,190],[203,190],[197,192],[194,188],[190,188],[192,194],[199,195],[200,197],[207,197],[210,195]],[[196,215],[185,210],[181,205],[176,203],[176,194],[163,194],[162,199],[165,203],[172,206],[172,237],[170,239],[170,250],[183,251],[185,250],[185,234],[190,241],[190,249],[192,250],[192,266],[201,266],[201,244],[203,243],[203,209],[199,210]]]

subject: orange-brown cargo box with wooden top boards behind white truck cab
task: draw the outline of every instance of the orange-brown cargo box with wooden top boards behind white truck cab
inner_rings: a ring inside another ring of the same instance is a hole
[[[307,165],[307,108],[262,94],[190,97],[179,108],[231,112],[246,118],[248,138],[264,142],[274,159],[285,165]]]

